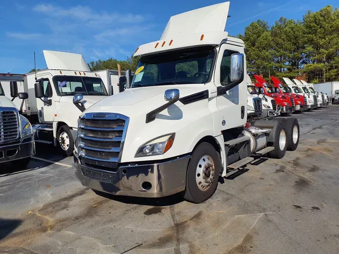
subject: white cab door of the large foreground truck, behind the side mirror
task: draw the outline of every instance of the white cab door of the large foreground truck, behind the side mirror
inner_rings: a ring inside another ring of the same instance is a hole
[[[219,110],[221,130],[228,130],[243,126],[247,121],[247,83],[243,77],[236,82],[236,86],[228,89],[231,81],[231,57],[238,54],[240,47],[222,44],[215,65],[214,84],[217,87],[216,104]],[[246,70],[245,56],[243,58]]]

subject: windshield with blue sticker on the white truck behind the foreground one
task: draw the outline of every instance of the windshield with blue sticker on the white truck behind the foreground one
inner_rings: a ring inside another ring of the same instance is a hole
[[[107,96],[106,88],[100,78],[55,76],[53,77],[55,89],[60,95],[103,95]]]

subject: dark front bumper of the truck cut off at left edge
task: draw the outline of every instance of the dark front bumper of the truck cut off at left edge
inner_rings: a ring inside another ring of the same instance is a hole
[[[0,145],[0,163],[10,162],[35,155],[35,142],[33,136],[25,138],[21,143]]]

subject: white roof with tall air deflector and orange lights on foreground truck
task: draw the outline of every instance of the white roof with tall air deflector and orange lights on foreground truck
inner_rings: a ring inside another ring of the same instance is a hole
[[[133,56],[185,47],[218,45],[228,37],[228,32],[224,29],[229,9],[230,2],[225,2],[172,16],[160,40],[139,46]],[[238,38],[232,38],[232,41],[244,44]]]

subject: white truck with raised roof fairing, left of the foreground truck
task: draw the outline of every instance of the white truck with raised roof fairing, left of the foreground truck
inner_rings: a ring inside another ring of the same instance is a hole
[[[36,142],[54,144],[61,153],[70,156],[79,114],[108,97],[108,92],[100,76],[90,72],[82,55],[43,52],[47,69],[24,77],[29,95],[27,115],[33,124]]]

